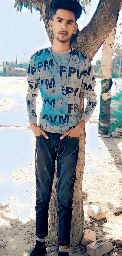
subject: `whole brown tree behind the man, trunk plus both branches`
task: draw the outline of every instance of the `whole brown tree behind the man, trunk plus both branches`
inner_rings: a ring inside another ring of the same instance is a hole
[[[21,2],[21,0],[19,0]],[[28,0],[27,0],[28,1]],[[41,10],[41,15],[43,21],[45,22],[45,28],[48,33],[51,44],[53,43],[53,35],[49,30],[49,4],[51,0],[40,0],[33,1],[35,2],[38,9]],[[18,3],[18,0],[16,0]],[[30,1],[28,1],[30,2]],[[118,19],[118,12],[120,10],[122,2],[120,0],[100,0],[97,10],[94,13],[91,21],[88,23],[87,27],[84,27],[82,31],[77,31],[79,33],[77,36],[77,40],[72,45],[87,55],[91,60],[94,55],[100,48],[100,46],[105,41],[107,35],[112,31],[112,29],[116,26]],[[20,6],[18,4],[18,6]],[[74,38],[75,39],[75,38]],[[84,99],[83,93],[80,92],[81,106],[80,112],[81,114],[84,112]],[[84,214],[83,214],[83,200],[82,200],[82,179],[84,172],[84,151],[85,151],[85,129],[83,130],[80,137],[80,145],[79,145],[79,157],[77,163],[77,178],[74,187],[74,200],[73,200],[73,216],[72,216],[72,227],[71,227],[71,245],[77,245],[80,243],[81,235],[83,232],[83,222],[84,222]],[[58,227],[58,208],[57,208],[57,173],[55,172],[54,183],[52,189],[52,196],[50,202],[49,209],[49,235],[48,241],[52,244],[57,244],[57,227]]]

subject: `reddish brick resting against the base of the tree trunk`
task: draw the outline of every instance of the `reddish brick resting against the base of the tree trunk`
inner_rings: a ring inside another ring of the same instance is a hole
[[[89,243],[96,241],[96,232],[91,229],[85,229],[81,244],[87,246]]]

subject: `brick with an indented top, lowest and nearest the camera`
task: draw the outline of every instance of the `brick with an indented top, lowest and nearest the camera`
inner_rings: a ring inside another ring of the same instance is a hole
[[[102,256],[113,250],[114,246],[106,238],[100,238],[96,242],[87,245],[87,254],[90,256]]]

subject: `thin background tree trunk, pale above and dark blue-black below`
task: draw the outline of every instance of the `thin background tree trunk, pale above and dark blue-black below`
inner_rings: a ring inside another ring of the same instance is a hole
[[[99,115],[99,126],[98,134],[108,135],[110,128],[110,103],[111,103],[111,64],[113,56],[113,46],[116,34],[116,27],[110,32],[108,37],[103,43],[102,51],[102,81],[101,81],[101,103],[100,103],[100,115]]]

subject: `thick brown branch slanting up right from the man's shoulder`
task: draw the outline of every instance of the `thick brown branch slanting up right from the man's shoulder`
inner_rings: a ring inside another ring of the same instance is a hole
[[[100,0],[91,21],[78,34],[74,47],[92,60],[115,27],[121,5],[120,0],[116,0],[116,3],[115,0]]]

